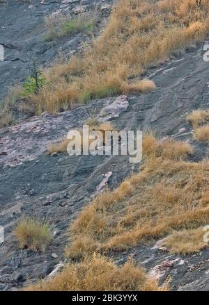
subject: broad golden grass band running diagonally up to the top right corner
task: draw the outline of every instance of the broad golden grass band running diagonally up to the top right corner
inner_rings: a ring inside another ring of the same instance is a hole
[[[203,40],[208,32],[209,3],[194,0],[118,0],[107,27],[91,46],[68,63],[45,71],[45,88],[34,97],[38,113],[121,92],[148,92],[148,80],[130,83],[173,51]]]

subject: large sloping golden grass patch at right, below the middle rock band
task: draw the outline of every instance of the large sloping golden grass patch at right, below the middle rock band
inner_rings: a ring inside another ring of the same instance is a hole
[[[209,164],[182,160],[192,153],[185,142],[160,142],[149,133],[144,135],[144,145],[141,172],[116,190],[96,197],[72,223],[65,251],[68,257],[85,257],[95,250],[119,251],[173,229],[191,229],[208,222],[209,209],[201,199],[206,199]]]

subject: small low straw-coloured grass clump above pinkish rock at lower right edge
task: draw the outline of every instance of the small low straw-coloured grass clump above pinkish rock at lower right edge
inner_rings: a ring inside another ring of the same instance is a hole
[[[203,227],[177,231],[165,240],[163,245],[171,254],[192,254],[208,247],[203,241]]]

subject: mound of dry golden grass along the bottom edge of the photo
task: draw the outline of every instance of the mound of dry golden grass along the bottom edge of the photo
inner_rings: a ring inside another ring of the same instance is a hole
[[[150,279],[144,269],[130,260],[116,266],[104,256],[86,258],[82,263],[70,264],[56,278],[40,281],[27,291],[166,291]]]

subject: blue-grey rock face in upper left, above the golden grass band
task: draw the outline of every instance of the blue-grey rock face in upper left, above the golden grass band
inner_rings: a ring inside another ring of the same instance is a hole
[[[83,33],[46,42],[45,17],[68,12],[78,15],[88,10],[98,11],[102,17],[109,15],[112,1],[69,0],[69,1],[15,1],[8,0],[0,7],[0,44],[4,47],[5,58],[1,62],[0,98],[15,83],[24,81],[31,56],[38,65],[49,65],[61,53],[68,58],[88,40]]]

